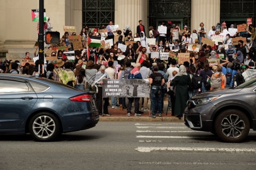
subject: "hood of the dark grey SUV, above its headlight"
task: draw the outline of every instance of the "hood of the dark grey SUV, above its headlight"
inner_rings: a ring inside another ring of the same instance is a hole
[[[200,99],[200,98],[204,98],[204,97],[212,97],[212,96],[219,96],[219,95],[224,95],[224,94],[229,94],[229,93],[236,93],[240,90],[242,90],[242,88],[236,88],[236,89],[225,88],[225,89],[210,90],[210,91],[206,91],[204,93],[195,95],[191,99]]]

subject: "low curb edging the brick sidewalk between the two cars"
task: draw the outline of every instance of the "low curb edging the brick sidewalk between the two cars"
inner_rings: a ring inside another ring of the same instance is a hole
[[[100,117],[99,121],[137,121],[137,122],[184,122],[182,119],[176,117]]]

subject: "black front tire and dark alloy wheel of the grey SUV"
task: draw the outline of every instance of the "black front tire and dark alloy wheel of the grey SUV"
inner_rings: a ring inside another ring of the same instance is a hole
[[[217,116],[214,129],[216,135],[224,142],[241,142],[249,133],[250,122],[245,113],[230,109]]]

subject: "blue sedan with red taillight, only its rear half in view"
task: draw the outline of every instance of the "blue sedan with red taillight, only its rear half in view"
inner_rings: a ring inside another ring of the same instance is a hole
[[[36,141],[94,127],[93,93],[29,75],[0,74],[0,133],[30,133]]]

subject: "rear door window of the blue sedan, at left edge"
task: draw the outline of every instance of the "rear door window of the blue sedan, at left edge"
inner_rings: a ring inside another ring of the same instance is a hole
[[[0,80],[0,94],[26,93],[29,88],[25,82],[15,80]]]

